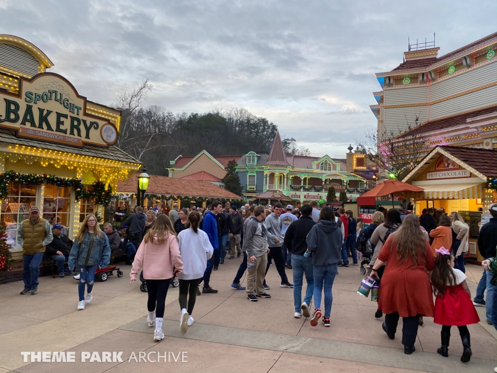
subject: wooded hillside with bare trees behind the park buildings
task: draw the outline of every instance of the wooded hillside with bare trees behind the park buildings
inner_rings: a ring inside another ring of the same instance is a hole
[[[130,114],[131,112],[131,114]],[[212,155],[269,152],[277,126],[246,109],[173,114],[162,106],[122,112],[121,149],[138,158],[148,173],[166,175],[169,161],[205,149]]]

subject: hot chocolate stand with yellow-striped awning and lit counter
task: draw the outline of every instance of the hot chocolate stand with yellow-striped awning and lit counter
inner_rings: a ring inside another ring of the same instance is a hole
[[[477,242],[482,214],[497,199],[497,149],[438,146],[403,181],[424,189],[407,194],[417,215],[432,207],[438,223],[441,214],[459,212],[470,228],[469,256],[483,260]]]

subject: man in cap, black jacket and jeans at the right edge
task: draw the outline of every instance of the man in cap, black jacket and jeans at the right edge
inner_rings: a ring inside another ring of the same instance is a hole
[[[497,246],[497,203],[492,203],[489,208],[492,217],[489,222],[485,224],[480,230],[480,235],[478,236],[478,250],[480,254],[485,259],[496,257],[496,246]],[[492,320],[492,303],[493,298],[497,296],[496,286],[492,284],[492,272],[483,271],[482,279],[480,280],[478,287],[476,289],[476,297],[473,300],[473,304],[476,306],[486,305],[487,313],[487,323]],[[485,287],[487,288],[487,301],[483,300],[483,293],[485,292]],[[482,302],[483,301],[483,302]],[[483,303],[483,304],[482,304]]]

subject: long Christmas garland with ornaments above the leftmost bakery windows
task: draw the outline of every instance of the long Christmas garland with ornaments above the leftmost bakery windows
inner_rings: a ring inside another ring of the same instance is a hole
[[[83,198],[83,184],[77,178],[60,178],[54,175],[19,174],[15,171],[5,171],[0,174],[0,199],[8,195],[8,183],[15,182],[20,185],[41,185],[42,183],[55,185],[57,187],[73,187],[76,200]]]

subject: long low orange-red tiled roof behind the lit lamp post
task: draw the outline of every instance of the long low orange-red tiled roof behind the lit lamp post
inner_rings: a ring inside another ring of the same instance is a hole
[[[117,182],[117,192],[136,193],[138,186],[138,175],[134,174],[124,182]],[[232,193],[212,183],[194,180],[181,180],[168,178],[166,176],[150,175],[147,193],[165,195],[184,195],[211,198],[240,199],[239,195]]]

